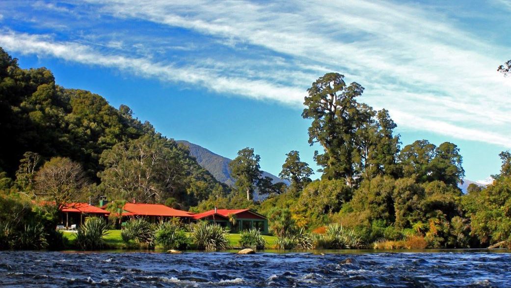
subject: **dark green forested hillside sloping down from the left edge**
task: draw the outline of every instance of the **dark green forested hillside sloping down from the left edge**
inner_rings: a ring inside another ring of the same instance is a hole
[[[83,193],[74,200],[105,194],[189,207],[211,191],[226,192],[187,147],[134,118],[126,105],[116,109],[100,95],[61,87],[48,69],[20,69],[1,49],[0,80],[4,187],[37,194],[37,171],[58,157],[83,170]]]

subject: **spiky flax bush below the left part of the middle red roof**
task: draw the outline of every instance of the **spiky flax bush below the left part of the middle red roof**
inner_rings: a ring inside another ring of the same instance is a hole
[[[121,230],[121,237],[125,243],[134,240],[139,247],[154,248],[156,228],[143,218],[131,219]]]

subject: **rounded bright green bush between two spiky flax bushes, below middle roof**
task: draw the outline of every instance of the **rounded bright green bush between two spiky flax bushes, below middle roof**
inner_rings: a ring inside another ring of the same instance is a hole
[[[182,228],[172,222],[158,224],[155,242],[165,249],[186,250],[190,246],[190,238]]]

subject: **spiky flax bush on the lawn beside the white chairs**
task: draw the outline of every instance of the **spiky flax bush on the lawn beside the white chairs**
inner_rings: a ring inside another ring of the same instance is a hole
[[[103,236],[107,234],[106,221],[99,217],[90,217],[78,228],[76,243],[82,250],[101,249],[104,246]]]

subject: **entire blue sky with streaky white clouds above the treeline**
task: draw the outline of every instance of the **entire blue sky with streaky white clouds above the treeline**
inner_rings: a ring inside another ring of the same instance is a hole
[[[2,1],[0,46],[23,68],[129,105],[164,135],[278,174],[311,166],[303,99],[327,72],[387,108],[403,145],[456,143],[484,180],[511,147],[511,0]],[[316,176],[317,173],[316,173]]]

